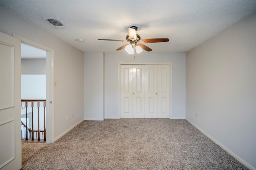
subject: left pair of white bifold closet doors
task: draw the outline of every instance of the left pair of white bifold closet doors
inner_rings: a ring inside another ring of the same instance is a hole
[[[145,118],[145,65],[120,65],[120,116]]]

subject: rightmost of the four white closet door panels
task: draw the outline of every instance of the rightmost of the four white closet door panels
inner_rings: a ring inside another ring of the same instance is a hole
[[[158,82],[158,113],[157,118],[169,118],[170,113],[170,65],[157,65],[157,82]]]

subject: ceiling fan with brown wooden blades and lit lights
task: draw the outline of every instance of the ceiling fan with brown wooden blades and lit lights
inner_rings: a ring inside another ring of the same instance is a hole
[[[119,47],[118,50],[125,49],[128,54],[135,55],[135,52],[138,54],[145,51],[152,51],[149,47],[142,43],[160,43],[160,42],[168,42],[168,38],[151,38],[151,39],[140,39],[140,35],[136,33],[138,27],[131,26],[128,28],[128,35],[126,35],[126,41],[124,40],[116,40],[116,39],[98,39],[98,40],[106,40],[106,41],[122,41],[126,42],[128,44],[125,44],[121,47]]]

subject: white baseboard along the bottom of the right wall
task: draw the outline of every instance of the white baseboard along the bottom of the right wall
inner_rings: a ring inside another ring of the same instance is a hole
[[[226,152],[228,152],[231,156],[233,156],[234,158],[236,158],[239,162],[241,162],[242,164],[244,164],[244,166],[246,166],[247,168],[249,168],[250,170],[256,170],[256,168],[254,168],[253,166],[251,166],[250,164],[248,164],[246,161],[244,161],[242,158],[240,158],[239,156],[237,156],[234,152],[232,152],[231,150],[229,150],[227,147],[225,147],[224,145],[222,145],[220,142],[218,142],[216,139],[214,139],[212,136],[210,136],[208,133],[206,133],[205,131],[203,131],[200,127],[198,127],[197,125],[195,125],[194,123],[192,123],[190,120],[186,119],[189,123],[191,123],[194,127],[196,127],[196,129],[198,129],[199,131],[201,131],[204,135],[206,135],[208,138],[210,138],[214,143],[216,143],[217,145],[219,145],[222,149],[224,149]]]

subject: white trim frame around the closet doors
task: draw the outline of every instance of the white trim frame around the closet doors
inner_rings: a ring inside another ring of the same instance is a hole
[[[120,88],[120,66],[121,64],[169,64],[169,91],[170,91],[170,104],[169,104],[169,119],[172,119],[172,62],[171,61],[149,61],[149,62],[118,62],[118,118],[121,118],[121,88]]]

